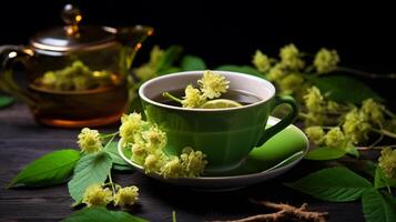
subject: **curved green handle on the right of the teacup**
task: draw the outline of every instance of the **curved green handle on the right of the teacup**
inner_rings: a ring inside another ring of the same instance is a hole
[[[276,95],[271,103],[270,111],[272,112],[277,105],[282,103],[290,104],[292,107],[292,111],[280,122],[264,130],[262,137],[258,140],[257,147],[263,145],[270,138],[272,138],[283,129],[287,128],[287,125],[292,124],[293,121],[297,118],[298,115],[297,102],[290,95]]]

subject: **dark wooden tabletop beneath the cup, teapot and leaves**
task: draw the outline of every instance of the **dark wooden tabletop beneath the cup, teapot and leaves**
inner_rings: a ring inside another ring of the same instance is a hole
[[[28,108],[20,103],[0,110],[0,221],[60,221],[73,212],[65,184],[13,190],[4,186],[32,160],[54,150],[77,148],[78,133],[79,130],[37,124]],[[158,182],[139,172],[114,172],[113,179],[122,185],[140,188],[139,205],[131,213],[150,221],[172,221],[173,210],[179,222],[241,219],[266,212],[251,204],[248,198],[293,205],[306,202],[311,210],[329,212],[328,221],[364,221],[359,202],[323,202],[282,185],[316,170],[316,164],[303,161],[275,180],[229,192],[192,191]]]

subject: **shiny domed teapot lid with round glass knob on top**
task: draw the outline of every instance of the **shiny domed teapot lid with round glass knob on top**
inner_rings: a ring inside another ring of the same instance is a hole
[[[37,33],[30,44],[40,50],[69,52],[109,47],[115,43],[116,30],[110,27],[79,26],[81,12],[72,4],[67,4],[61,13],[64,27],[58,27]]]

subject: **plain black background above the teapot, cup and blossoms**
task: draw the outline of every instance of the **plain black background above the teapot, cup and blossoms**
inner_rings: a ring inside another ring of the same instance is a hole
[[[149,24],[155,36],[146,41],[138,63],[154,44],[181,44],[186,53],[203,57],[211,68],[224,63],[248,64],[256,49],[277,56],[294,42],[314,53],[337,49],[342,64],[366,71],[396,71],[395,12],[392,3],[337,1],[3,1],[0,44],[28,43],[33,33],[61,26],[60,11],[72,2],[83,12],[83,23]],[[382,94],[392,81],[364,80]]]

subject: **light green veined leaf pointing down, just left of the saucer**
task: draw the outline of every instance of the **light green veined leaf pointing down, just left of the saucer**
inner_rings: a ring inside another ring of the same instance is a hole
[[[75,203],[80,203],[85,189],[94,183],[103,183],[112,165],[111,157],[105,152],[84,155],[77,163],[74,174],[68,183],[69,193]]]

